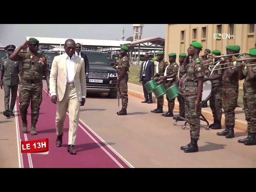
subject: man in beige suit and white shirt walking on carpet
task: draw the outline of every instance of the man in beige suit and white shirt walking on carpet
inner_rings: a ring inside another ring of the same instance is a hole
[[[79,121],[80,106],[86,98],[86,77],[84,59],[76,56],[76,43],[72,39],[65,42],[65,54],[54,57],[50,73],[50,94],[52,103],[57,104],[56,132],[57,147],[62,146],[63,126],[69,111],[68,152],[76,154],[74,144]]]

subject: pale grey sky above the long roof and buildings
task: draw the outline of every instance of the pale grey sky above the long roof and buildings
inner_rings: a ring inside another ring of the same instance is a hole
[[[133,36],[132,24],[0,24],[0,42],[17,47],[26,36],[120,40],[123,27],[124,40]],[[166,24],[144,24],[142,38],[165,38],[165,30]]]

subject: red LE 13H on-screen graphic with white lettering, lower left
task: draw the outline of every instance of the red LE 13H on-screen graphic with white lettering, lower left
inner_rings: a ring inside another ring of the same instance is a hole
[[[48,154],[49,139],[38,139],[31,141],[21,141],[22,153]]]

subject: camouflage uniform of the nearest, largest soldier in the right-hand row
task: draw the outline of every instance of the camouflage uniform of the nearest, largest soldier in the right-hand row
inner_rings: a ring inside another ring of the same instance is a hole
[[[198,104],[197,112],[195,112],[195,102],[197,100],[198,82],[196,78],[204,77],[204,65],[199,58],[191,59],[191,62],[186,66],[185,80],[185,116],[190,124],[190,137],[198,139],[200,136],[200,115],[201,104]]]

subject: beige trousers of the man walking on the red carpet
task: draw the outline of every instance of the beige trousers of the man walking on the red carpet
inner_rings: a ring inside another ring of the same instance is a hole
[[[66,84],[66,91],[61,101],[57,101],[56,132],[63,133],[66,112],[69,112],[68,144],[74,145],[79,121],[80,102],[78,101],[74,83]]]

